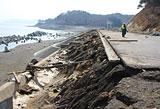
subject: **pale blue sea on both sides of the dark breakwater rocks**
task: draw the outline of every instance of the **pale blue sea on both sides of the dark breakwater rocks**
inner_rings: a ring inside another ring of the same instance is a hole
[[[20,35],[24,36],[32,32],[36,31],[43,31],[43,32],[48,32],[52,33],[52,35],[56,34],[65,34],[65,31],[62,30],[48,30],[48,29],[40,29],[38,27],[33,27],[33,25],[36,24],[36,21],[25,21],[25,20],[9,20],[9,21],[0,21],[0,37],[5,37],[5,36],[12,36],[12,35]],[[36,37],[35,37],[36,38]],[[39,38],[39,37],[37,37]],[[50,37],[50,36],[42,36],[40,37],[41,40],[56,40],[56,39],[63,39],[65,37],[63,36],[57,36],[57,37]],[[8,49],[15,48],[18,45],[22,44],[29,44],[29,43],[35,43],[37,42],[36,40],[27,40],[25,43],[23,41],[18,42],[12,42],[8,44]],[[1,44],[0,45],[0,52],[4,51],[6,45]]]

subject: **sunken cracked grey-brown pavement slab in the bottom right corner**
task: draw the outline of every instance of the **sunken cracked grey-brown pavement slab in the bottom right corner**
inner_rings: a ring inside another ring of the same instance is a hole
[[[127,106],[146,109],[150,105],[160,108],[160,83],[137,77],[123,78],[116,86],[116,97]]]

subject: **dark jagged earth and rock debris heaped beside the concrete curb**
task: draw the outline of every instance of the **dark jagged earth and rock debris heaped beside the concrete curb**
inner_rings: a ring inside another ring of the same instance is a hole
[[[62,57],[81,63],[67,72],[68,79],[54,103],[57,108],[104,108],[115,95],[114,87],[128,74],[120,63],[109,63],[96,31],[79,36],[75,42],[79,44],[67,47]]]

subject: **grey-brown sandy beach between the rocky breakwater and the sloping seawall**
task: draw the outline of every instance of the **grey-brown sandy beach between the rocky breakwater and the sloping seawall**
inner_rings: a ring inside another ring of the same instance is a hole
[[[4,84],[13,75],[8,73],[13,71],[24,71],[27,64],[35,59],[34,53],[53,45],[60,40],[42,41],[41,43],[32,43],[17,46],[10,50],[10,52],[0,52],[0,85]]]

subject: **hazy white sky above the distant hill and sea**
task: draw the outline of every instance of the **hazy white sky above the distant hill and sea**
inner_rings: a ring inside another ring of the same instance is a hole
[[[47,19],[62,12],[83,10],[92,14],[136,14],[139,0],[0,0],[2,19]]]

